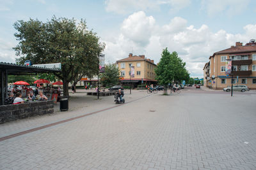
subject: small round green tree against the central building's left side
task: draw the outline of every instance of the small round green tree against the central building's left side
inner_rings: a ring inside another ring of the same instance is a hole
[[[120,71],[116,64],[106,64],[105,72],[100,74],[100,82],[103,85],[116,85],[119,80]]]

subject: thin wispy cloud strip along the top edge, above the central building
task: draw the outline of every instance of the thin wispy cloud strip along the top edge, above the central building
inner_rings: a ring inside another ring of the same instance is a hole
[[[191,0],[106,0],[106,11],[124,14],[134,11],[160,10],[161,6],[170,6],[170,11],[177,12],[190,4]]]

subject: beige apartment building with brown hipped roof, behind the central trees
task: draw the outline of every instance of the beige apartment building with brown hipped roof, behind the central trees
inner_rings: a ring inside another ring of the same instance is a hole
[[[154,60],[145,58],[145,55],[132,55],[121,60],[117,60],[116,64],[120,70],[120,79],[122,84],[132,83],[134,87],[141,84],[156,84],[156,73]],[[130,65],[134,67],[134,77],[131,77],[130,81]]]

